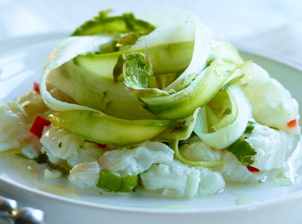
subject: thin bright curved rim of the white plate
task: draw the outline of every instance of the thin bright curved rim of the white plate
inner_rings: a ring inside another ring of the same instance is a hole
[[[28,47],[29,45],[35,45],[39,43],[45,43],[47,41],[54,41],[55,39],[62,39],[67,35],[67,32],[59,32],[59,33],[49,33],[49,34],[36,34],[36,35],[29,35],[29,36],[19,36],[13,39],[7,39],[5,41],[2,41],[0,43],[1,46],[8,46],[12,45],[16,41],[19,41],[19,44],[13,48],[6,47],[4,50],[1,50],[0,55],[5,55],[7,52],[10,52],[12,50],[18,50],[19,48]],[[25,41],[22,42],[22,40]],[[34,39],[39,40],[34,41]],[[32,41],[30,41],[32,40]],[[60,43],[60,42],[58,42]],[[251,55],[256,55],[260,57],[265,57],[267,59],[271,59],[275,62],[278,62],[280,64],[289,66],[291,68],[294,68],[298,71],[301,71],[302,74],[302,64],[298,64],[298,62],[294,62],[291,59],[288,59],[287,57],[284,57],[284,55],[280,55],[276,52],[271,52],[269,50],[263,50],[258,48],[251,48],[246,45],[242,45],[239,43],[232,43],[232,45],[235,46],[235,48],[239,52],[246,52]],[[7,164],[7,163],[6,163]],[[8,165],[8,164],[7,164]],[[18,171],[17,171],[18,172]],[[52,193],[47,193],[43,190],[34,189],[28,186],[23,186],[20,183],[17,183],[15,181],[12,181],[10,179],[7,179],[5,176],[1,176],[0,174],[0,183],[6,183],[10,186],[14,186],[15,188],[18,188],[18,190],[25,190],[27,193],[31,193],[34,195],[38,195],[39,197],[46,197],[51,200],[58,200],[60,202],[65,202],[68,204],[74,204],[77,206],[85,206],[85,207],[91,207],[95,209],[105,209],[105,210],[114,210],[114,211],[128,211],[128,212],[134,212],[134,213],[145,213],[145,214],[217,214],[217,212],[221,213],[229,213],[229,212],[239,212],[239,211],[250,211],[251,209],[255,209],[257,207],[258,209],[261,209],[263,207],[269,207],[274,205],[274,207],[277,204],[283,204],[284,202],[289,201],[296,201],[301,200],[302,201],[302,189],[296,191],[295,193],[291,193],[290,195],[286,195],[283,197],[278,197],[275,199],[265,200],[264,202],[259,202],[258,204],[242,204],[242,205],[235,205],[235,206],[229,206],[229,207],[219,207],[219,208],[200,208],[200,209],[153,209],[152,207],[126,207],[126,206],[117,206],[112,204],[101,204],[97,202],[87,202],[84,200],[76,200],[69,197],[64,197],[60,195],[55,195]],[[190,200],[190,198],[188,199]]]

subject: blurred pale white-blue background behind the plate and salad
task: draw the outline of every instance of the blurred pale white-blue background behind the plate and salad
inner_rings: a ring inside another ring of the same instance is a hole
[[[301,0],[0,0],[0,52],[32,35],[66,35],[99,10],[119,14],[163,4],[192,10],[216,38],[275,52],[302,64]]]

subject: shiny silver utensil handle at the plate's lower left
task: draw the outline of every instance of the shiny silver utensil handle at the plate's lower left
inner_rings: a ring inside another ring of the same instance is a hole
[[[31,207],[18,209],[18,202],[0,196],[0,218],[15,224],[46,224],[44,211]]]

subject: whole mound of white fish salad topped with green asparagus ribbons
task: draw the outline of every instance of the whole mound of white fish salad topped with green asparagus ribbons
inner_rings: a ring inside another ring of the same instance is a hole
[[[267,71],[189,10],[110,13],[84,22],[39,84],[0,104],[0,151],[108,194],[204,196],[289,171],[298,103]]]

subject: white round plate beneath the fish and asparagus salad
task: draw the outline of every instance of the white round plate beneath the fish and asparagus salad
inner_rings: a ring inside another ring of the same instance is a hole
[[[5,49],[0,52],[0,102],[19,97],[32,87],[34,80],[39,80],[46,58],[65,36],[30,36],[0,44],[0,49]],[[301,67],[265,52],[241,51],[245,59],[253,59],[280,80],[302,105]],[[39,179],[39,175],[31,177]],[[302,222],[301,177],[292,186],[239,186],[190,200],[157,197],[141,190],[125,197],[74,192],[58,191],[58,186],[46,189],[33,185],[0,158],[0,195],[18,200],[21,206],[44,210],[48,224]],[[252,203],[238,205],[238,200]]]

